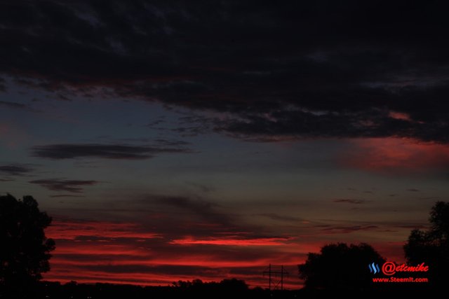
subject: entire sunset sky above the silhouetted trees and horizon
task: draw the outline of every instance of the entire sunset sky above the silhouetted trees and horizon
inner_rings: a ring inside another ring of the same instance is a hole
[[[335,242],[404,260],[448,198],[446,1],[1,1],[0,193],[55,281],[167,285]]]

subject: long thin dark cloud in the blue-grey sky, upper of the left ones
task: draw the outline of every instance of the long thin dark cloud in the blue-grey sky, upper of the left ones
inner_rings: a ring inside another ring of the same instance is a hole
[[[153,158],[160,153],[192,153],[187,148],[140,146],[130,144],[50,144],[34,146],[34,157],[54,160],[72,158],[105,158],[140,160]]]

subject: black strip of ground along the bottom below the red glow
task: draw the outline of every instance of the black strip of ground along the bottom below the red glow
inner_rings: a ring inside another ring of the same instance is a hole
[[[242,284],[190,284],[185,286],[133,286],[118,284],[59,284],[58,282],[43,282],[39,287],[39,295],[33,298],[58,298],[58,299],[103,299],[103,298],[330,298],[344,295],[346,298],[368,298],[382,296],[408,296],[431,295],[434,289],[429,286],[415,285],[386,285],[375,286],[365,291],[354,290],[287,290],[269,291],[263,288],[248,288]]]

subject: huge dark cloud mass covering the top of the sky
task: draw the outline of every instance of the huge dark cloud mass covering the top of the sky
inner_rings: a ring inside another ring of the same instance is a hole
[[[445,11],[403,0],[4,1],[0,73],[62,95],[213,111],[213,130],[255,141],[447,143]]]

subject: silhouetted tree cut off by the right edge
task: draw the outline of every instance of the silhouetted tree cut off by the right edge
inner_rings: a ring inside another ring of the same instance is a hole
[[[404,252],[411,265],[429,265],[429,282],[442,287],[449,279],[449,202],[436,202],[429,221],[429,230],[410,232]]]

